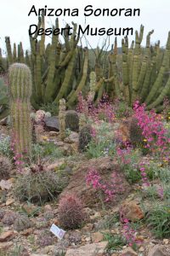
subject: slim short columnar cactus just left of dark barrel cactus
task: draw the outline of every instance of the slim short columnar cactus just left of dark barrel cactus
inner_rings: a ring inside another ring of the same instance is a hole
[[[65,99],[59,100],[59,137],[65,138]]]

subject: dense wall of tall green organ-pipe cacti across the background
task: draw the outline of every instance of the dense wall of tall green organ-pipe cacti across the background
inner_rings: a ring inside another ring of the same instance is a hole
[[[44,16],[39,17],[38,28],[44,28]],[[103,93],[113,98],[125,99],[129,106],[136,99],[145,102],[147,108],[162,108],[165,96],[170,96],[169,57],[170,32],[166,49],[160,42],[150,44],[154,31],[146,36],[145,48],[142,47],[144,26],[135,32],[135,40],[129,45],[128,38],[122,38],[122,54],[118,53],[115,38],[111,51],[102,49],[82,49],[77,46],[77,24],[73,23],[71,37],[65,30],[65,44],[60,44],[58,36],[52,37],[51,44],[46,46],[44,35],[38,40],[37,34],[30,36],[31,55],[24,55],[22,44],[16,45],[14,51],[10,39],[6,38],[8,64],[14,61],[26,63],[31,67],[33,93],[31,103],[34,108],[43,104],[56,104],[65,97],[66,107],[72,108],[77,103],[80,91],[88,94],[90,101],[99,102]],[[68,25],[66,25],[67,27]],[[59,28],[56,19],[54,29]],[[0,55],[0,64],[1,64]],[[88,75],[88,70],[92,71]],[[88,85],[89,86],[85,86]],[[88,90],[88,91],[87,91]]]

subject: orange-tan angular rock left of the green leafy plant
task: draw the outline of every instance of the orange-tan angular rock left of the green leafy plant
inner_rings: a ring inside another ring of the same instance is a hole
[[[144,218],[144,212],[135,201],[129,201],[122,204],[120,208],[121,218],[127,218],[130,221],[137,221]]]

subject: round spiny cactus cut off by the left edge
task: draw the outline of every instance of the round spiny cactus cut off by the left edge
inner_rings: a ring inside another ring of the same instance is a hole
[[[11,169],[12,169],[12,164],[10,160],[8,160],[8,157],[0,156],[0,180],[8,179]]]

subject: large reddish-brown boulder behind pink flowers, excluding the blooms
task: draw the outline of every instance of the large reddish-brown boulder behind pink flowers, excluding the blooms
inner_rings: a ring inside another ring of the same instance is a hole
[[[99,195],[95,189],[87,186],[86,184],[86,177],[89,172],[89,166],[93,166],[95,169],[97,169],[103,180],[108,180],[112,176],[113,171],[120,173],[120,166],[111,160],[110,157],[100,157],[99,159],[84,160],[81,164],[77,165],[76,172],[72,173],[68,186],[59,195],[59,198],[65,196],[66,194],[76,194],[82,199],[84,205],[88,208],[94,208],[96,205],[101,206]],[[125,198],[125,196],[127,196],[129,191],[132,189],[129,183],[127,183],[125,177],[122,177],[122,186],[125,189],[122,198]],[[120,201],[120,196],[117,196],[116,201]],[[111,205],[115,205],[116,201],[111,202]]]

